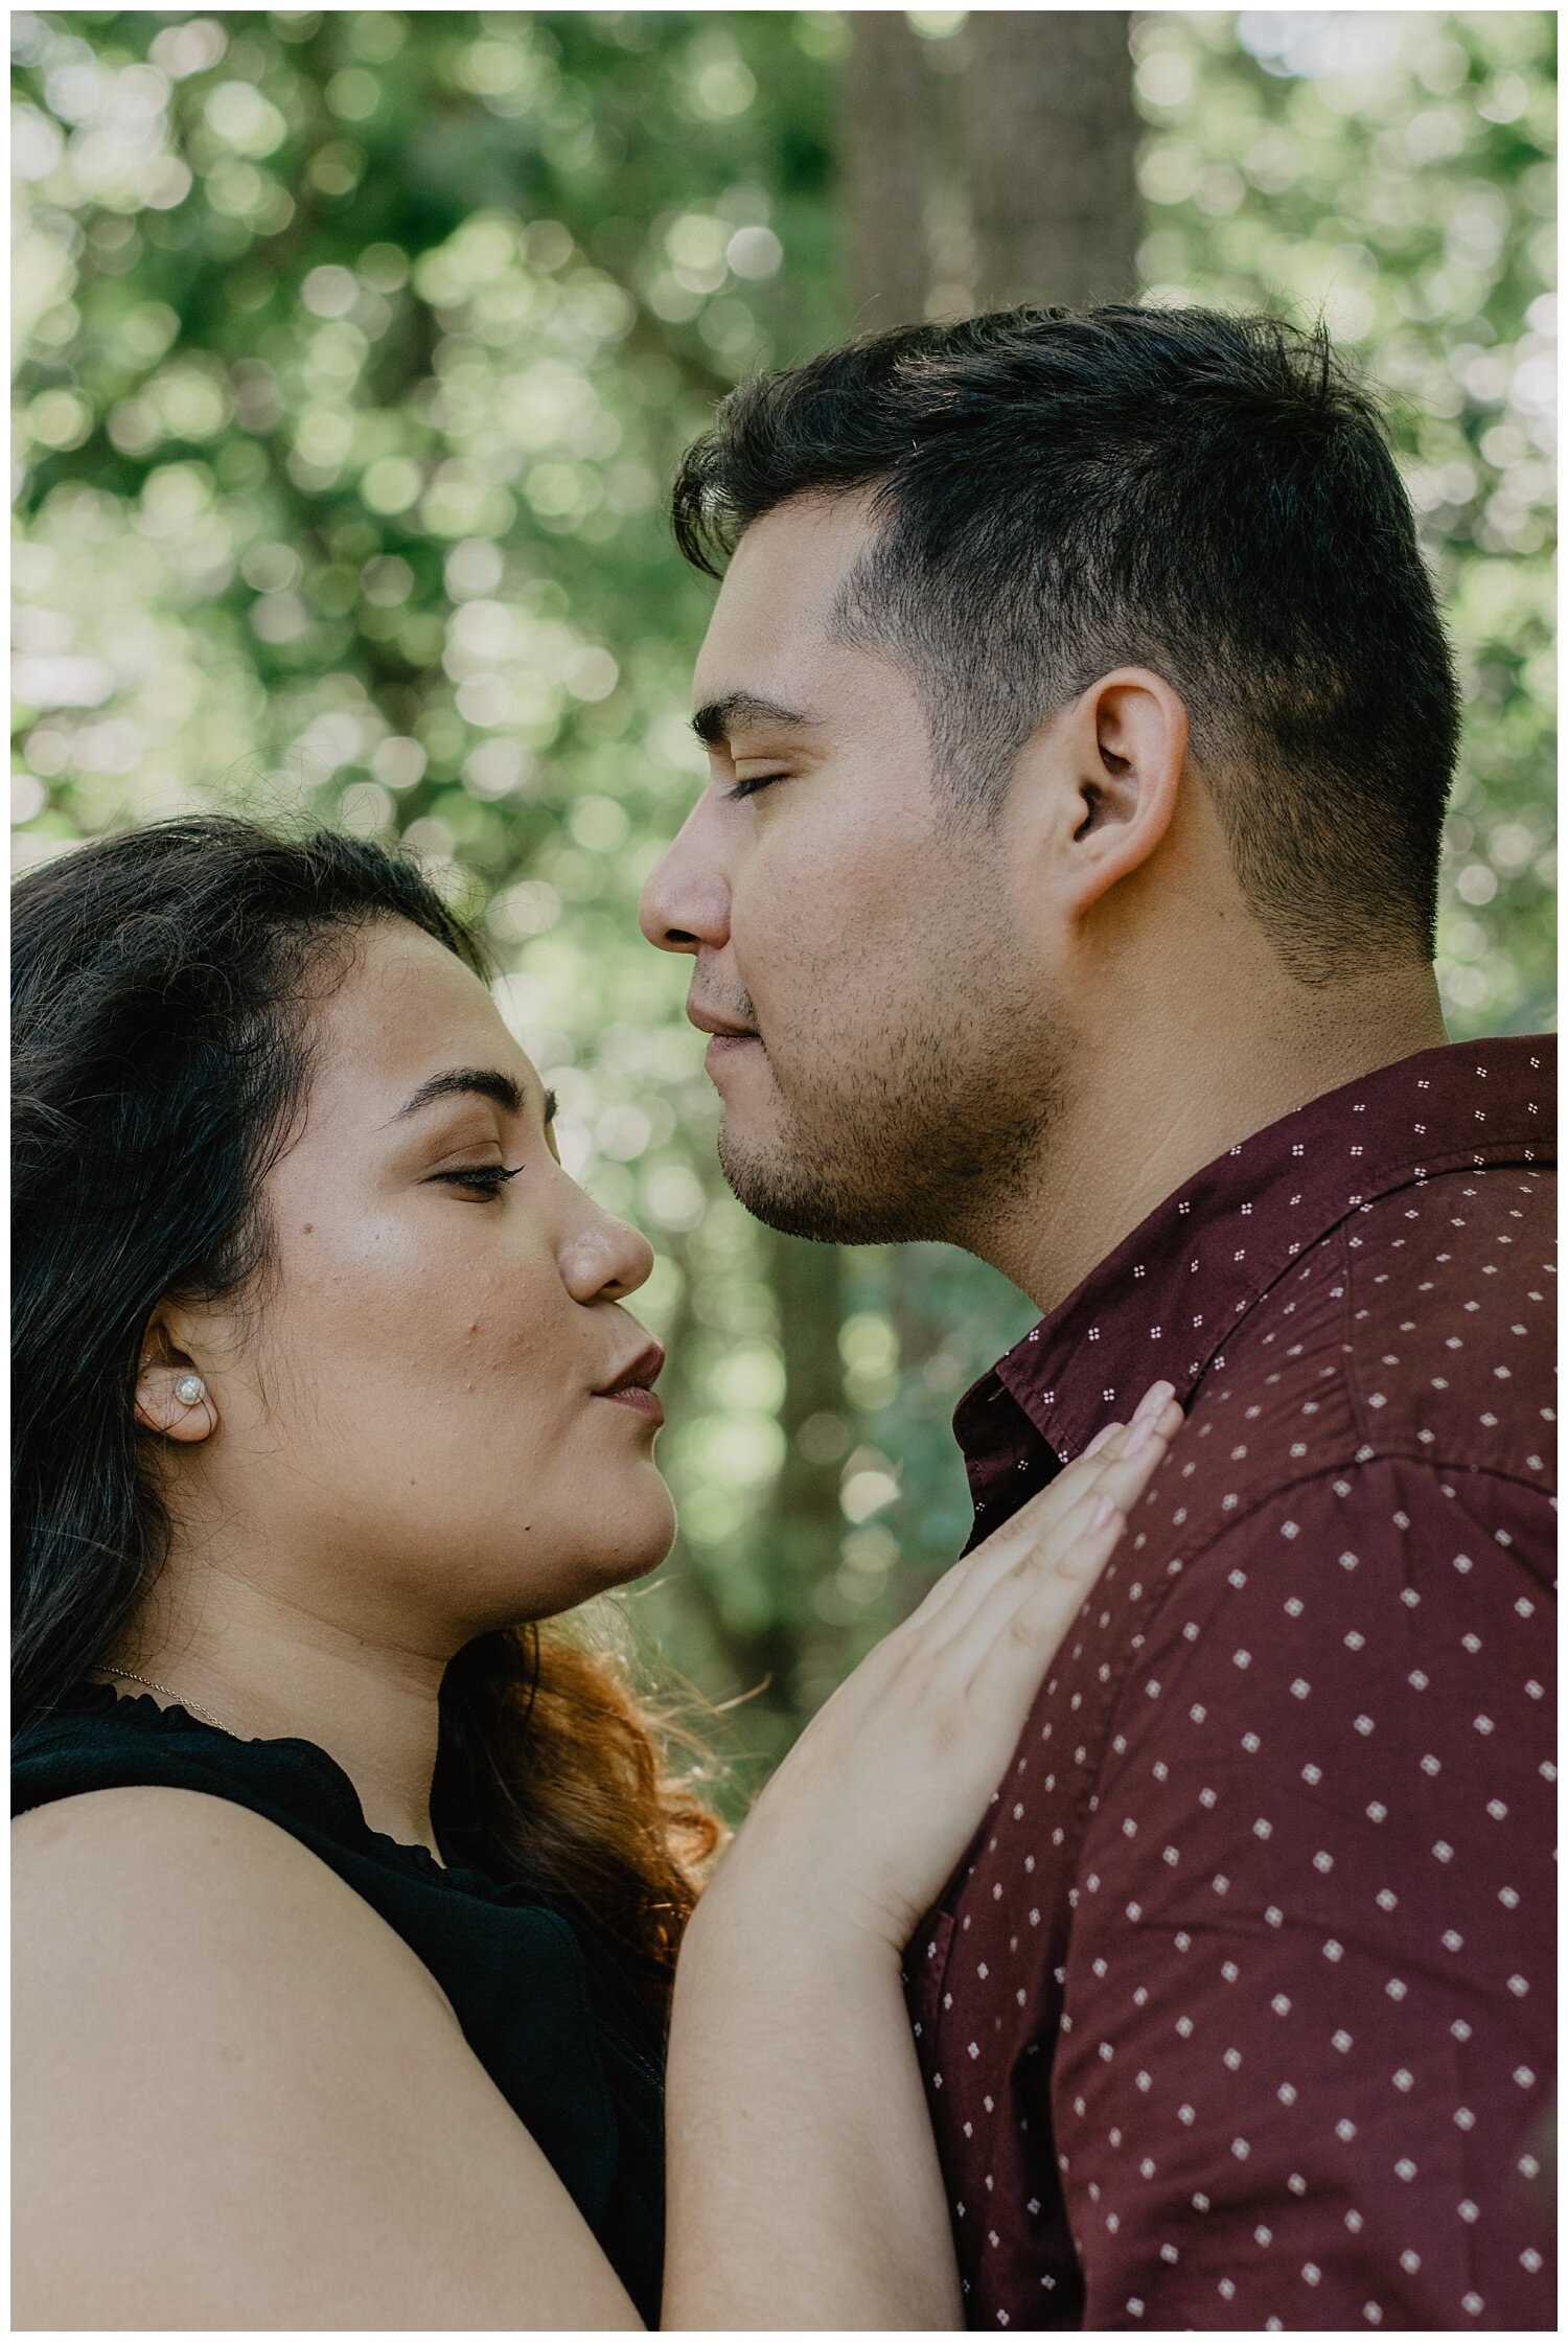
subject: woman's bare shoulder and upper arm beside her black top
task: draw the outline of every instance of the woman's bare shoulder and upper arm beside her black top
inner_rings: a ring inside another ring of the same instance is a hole
[[[309,1848],[140,1787],[12,1836],[21,2326],[637,2326],[435,1979]]]

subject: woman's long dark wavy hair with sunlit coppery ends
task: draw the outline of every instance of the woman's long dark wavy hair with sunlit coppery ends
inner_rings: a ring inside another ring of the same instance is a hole
[[[412,860],[194,817],[103,838],[14,890],[14,1726],[47,1712],[159,1576],[171,1522],[133,1426],[159,1302],[264,1295],[257,1197],[300,1124],[309,1005],[370,920],[475,974]],[[583,1909],[667,1995],[718,1824],[667,1771],[620,1660],[562,1630],[447,1668],[438,1827]]]

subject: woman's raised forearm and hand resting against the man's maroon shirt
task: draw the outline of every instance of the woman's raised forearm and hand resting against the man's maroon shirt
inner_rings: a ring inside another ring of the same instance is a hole
[[[723,1857],[674,1991],[665,2330],[962,2328],[903,1946],[1180,1422],[1156,1384],[950,1569]]]

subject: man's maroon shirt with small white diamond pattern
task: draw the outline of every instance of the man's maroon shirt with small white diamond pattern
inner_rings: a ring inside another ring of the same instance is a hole
[[[1187,1408],[906,1963],[971,2326],[1554,2323],[1552,1129],[1315,1098],[957,1410],[981,1536]]]

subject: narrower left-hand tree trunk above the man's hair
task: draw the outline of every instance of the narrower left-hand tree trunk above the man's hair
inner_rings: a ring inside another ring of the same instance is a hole
[[[903,9],[852,12],[840,82],[840,218],[854,333],[924,316],[927,73]]]

